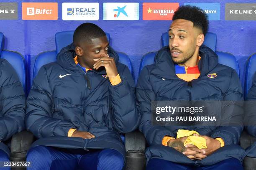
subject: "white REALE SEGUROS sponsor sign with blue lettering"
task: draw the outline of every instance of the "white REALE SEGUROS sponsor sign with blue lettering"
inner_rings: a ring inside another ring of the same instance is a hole
[[[99,20],[99,3],[62,3],[62,20]]]

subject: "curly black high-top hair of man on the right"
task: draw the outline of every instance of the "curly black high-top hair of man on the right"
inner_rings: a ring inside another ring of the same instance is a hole
[[[194,23],[194,26],[200,28],[205,35],[208,31],[209,21],[207,14],[201,8],[191,5],[180,6],[175,11],[172,20],[184,19]]]

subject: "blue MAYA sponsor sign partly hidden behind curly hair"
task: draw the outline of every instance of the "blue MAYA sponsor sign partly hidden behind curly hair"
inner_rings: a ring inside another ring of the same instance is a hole
[[[208,15],[208,20],[220,20],[220,3],[184,3],[184,5],[201,8]]]

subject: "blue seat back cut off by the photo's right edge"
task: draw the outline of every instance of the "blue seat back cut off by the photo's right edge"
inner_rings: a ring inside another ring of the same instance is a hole
[[[247,94],[251,89],[252,80],[255,72],[256,72],[256,53],[252,54],[247,60],[245,86],[244,86],[245,99],[247,98]]]

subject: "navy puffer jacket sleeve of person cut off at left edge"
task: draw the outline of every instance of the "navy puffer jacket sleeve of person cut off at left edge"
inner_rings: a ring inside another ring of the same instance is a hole
[[[0,141],[25,129],[25,94],[17,73],[4,60],[0,65]]]

